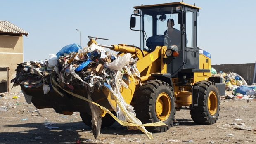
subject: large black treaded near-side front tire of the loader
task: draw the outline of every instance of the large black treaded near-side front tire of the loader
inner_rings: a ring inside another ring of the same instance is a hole
[[[147,83],[143,83],[133,97],[132,105],[134,106],[136,117],[143,124],[154,123],[160,121],[156,114],[156,100],[158,97],[161,97],[159,95],[161,93],[165,93],[165,97],[170,98],[168,101],[170,101],[171,106],[167,104],[167,107],[171,108],[171,110],[166,115],[166,120],[163,120],[167,126],[145,127],[150,132],[166,132],[173,125],[176,110],[172,87],[168,83],[160,80],[148,81]]]

